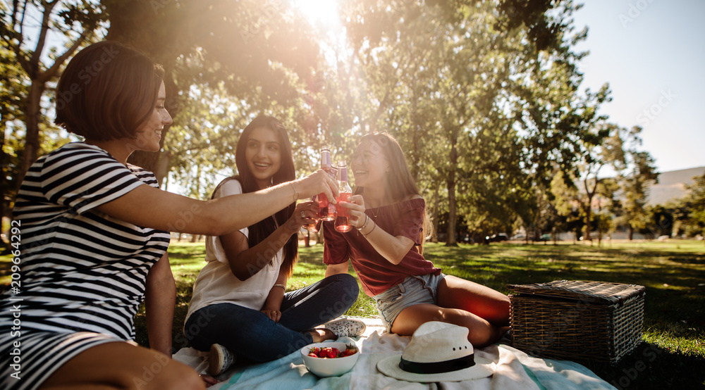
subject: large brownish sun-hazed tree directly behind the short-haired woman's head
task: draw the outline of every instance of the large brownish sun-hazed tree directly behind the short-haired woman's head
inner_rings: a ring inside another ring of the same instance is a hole
[[[263,113],[270,103],[286,107],[302,96],[319,55],[307,23],[298,23],[286,2],[103,0],[110,15],[107,39],[135,46],[164,65],[167,108],[176,117],[192,85],[223,82]],[[197,73],[183,71],[195,61]],[[184,76],[180,78],[180,76]],[[184,95],[184,92],[187,92]],[[169,135],[162,133],[162,140]],[[157,173],[164,153],[135,152],[130,162]]]

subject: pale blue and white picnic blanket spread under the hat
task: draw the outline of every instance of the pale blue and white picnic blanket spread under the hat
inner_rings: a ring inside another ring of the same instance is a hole
[[[211,389],[615,389],[583,365],[567,360],[533,358],[502,343],[475,350],[477,356],[496,363],[496,372],[489,378],[427,384],[400,381],[386,377],[376,365],[381,359],[402,353],[411,337],[386,332],[379,319],[363,320],[367,331],[356,341],[360,358],[353,370],[340,377],[313,375],[303,364],[299,351],[295,351],[268,363],[231,367],[218,377],[221,382]],[[173,358],[198,372],[207,372],[207,353],[182,348]]]

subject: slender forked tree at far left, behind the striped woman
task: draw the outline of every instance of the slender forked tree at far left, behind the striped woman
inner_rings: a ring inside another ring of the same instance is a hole
[[[27,169],[37,159],[40,144],[39,124],[41,123],[41,101],[47,83],[61,73],[61,68],[75,51],[96,38],[99,27],[104,22],[105,13],[99,4],[91,1],[13,1],[12,9],[4,6],[0,14],[3,23],[1,36],[3,46],[13,51],[16,61],[29,79],[27,94],[23,96],[23,118],[25,120],[25,148],[22,153],[18,173],[18,185]],[[32,25],[39,20],[39,26]],[[61,34],[66,45],[61,49],[49,48],[46,57],[49,34]],[[36,40],[30,38],[36,34]],[[28,46],[33,46],[32,48]],[[44,64],[44,59],[53,61]],[[71,99],[71,96],[58,96]]]

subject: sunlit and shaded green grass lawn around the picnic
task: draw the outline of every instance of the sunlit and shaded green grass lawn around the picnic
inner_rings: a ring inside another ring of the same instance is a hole
[[[183,327],[191,287],[202,267],[203,244],[174,243],[169,249],[178,297],[174,348],[185,346]],[[447,275],[509,294],[506,284],[557,279],[596,280],[646,286],[642,344],[618,365],[584,363],[618,389],[693,389],[705,386],[705,246],[702,241],[492,244],[446,247],[427,244],[424,254]],[[300,248],[288,283],[297,289],[321,279],[323,247]],[[0,283],[9,284],[9,257],[0,257]],[[352,267],[351,275],[355,275]],[[376,315],[360,293],[349,315]],[[147,345],[144,313],[136,319],[137,341]]]

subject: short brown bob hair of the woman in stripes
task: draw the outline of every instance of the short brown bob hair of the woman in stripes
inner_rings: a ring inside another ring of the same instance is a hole
[[[56,125],[86,139],[132,138],[149,119],[164,69],[135,49],[103,41],[76,54],[56,86]]]

